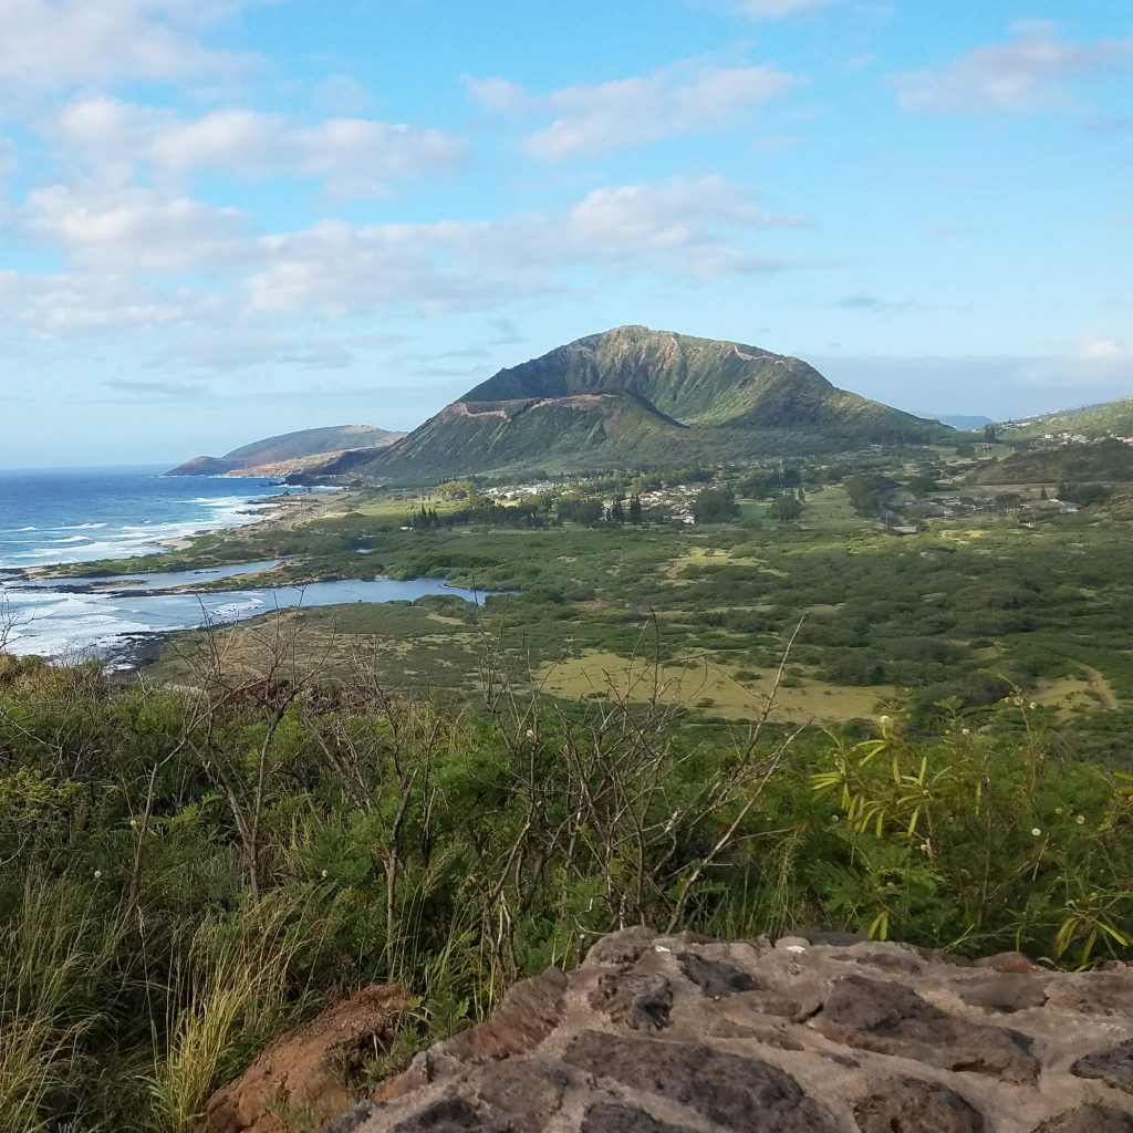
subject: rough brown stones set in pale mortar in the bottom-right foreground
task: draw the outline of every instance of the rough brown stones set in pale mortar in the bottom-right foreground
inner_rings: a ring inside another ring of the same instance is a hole
[[[630,929],[329,1133],[1133,1133],[1133,968]]]

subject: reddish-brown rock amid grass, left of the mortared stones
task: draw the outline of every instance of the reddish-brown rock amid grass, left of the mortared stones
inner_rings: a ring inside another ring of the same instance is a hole
[[[280,1114],[325,1122],[357,1097],[348,1087],[374,1042],[409,1003],[398,987],[369,987],[272,1042],[208,1100],[197,1133],[283,1133]]]

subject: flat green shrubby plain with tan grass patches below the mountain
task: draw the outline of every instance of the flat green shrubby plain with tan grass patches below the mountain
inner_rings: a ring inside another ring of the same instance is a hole
[[[365,663],[398,689],[467,692],[502,642],[525,680],[593,695],[647,649],[675,684],[698,689],[696,715],[744,719],[761,710],[802,621],[778,690],[783,717],[837,723],[904,706],[927,719],[942,702],[1016,692],[1077,723],[1133,707],[1121,506],[1031,528],[987,511],[898,538],[857,513],[840,485],[808,491],[793,523],[741,497],[738,518],[718,525],[411,529],[423,503],[440,517],[455,510],[414,493],[352,492],[305,521],[208,536],[177,561],[286,555],[281,582],[384,573],[514,591],[479,615],[455,598],[300,615],[309,665],[341,678]],[[263,631],[221,637],[250,665]],[[153,675],[185,682],[204,644],[184,636]]]

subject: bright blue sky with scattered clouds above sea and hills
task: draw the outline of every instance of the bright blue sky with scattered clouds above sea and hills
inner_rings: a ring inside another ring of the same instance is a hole
[[[1133,394],[1133,5],[0,0],[8,466],[411,428],[622,323]]]

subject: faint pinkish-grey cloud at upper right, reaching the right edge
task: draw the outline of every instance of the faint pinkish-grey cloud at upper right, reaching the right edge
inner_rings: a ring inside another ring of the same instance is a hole
[[[1034,111],[1070,102],[1074,79],[1133,73],[1133,39],[1071,43],[1046,23],[1017,24],[1006,43],[977,48],[951,66],[898,75],[906,110]]]

